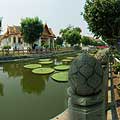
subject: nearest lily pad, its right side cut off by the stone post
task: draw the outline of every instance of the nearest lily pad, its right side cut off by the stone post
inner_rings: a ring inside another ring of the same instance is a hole
[[[51,76],[51,78],[58,82],[67,82],[68,81],[68,72],[59,72]]]

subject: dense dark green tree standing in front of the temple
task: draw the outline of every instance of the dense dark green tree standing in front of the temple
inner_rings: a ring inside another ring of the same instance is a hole
[[[25,18],[21,20],[21,32],[26,43],[33,46],[33,43],[39,39],[43,32],[42,21],[38,17]]]

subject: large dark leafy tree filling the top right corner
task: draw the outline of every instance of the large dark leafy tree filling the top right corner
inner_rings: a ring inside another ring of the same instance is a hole
[[[108,44],[118,46],[120,39],[120,0],[87,0],[84,19],[89,30]]]

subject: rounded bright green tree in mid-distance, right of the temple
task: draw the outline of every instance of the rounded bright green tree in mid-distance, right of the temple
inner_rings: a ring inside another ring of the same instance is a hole
[[[81,39],[81,29],[79,27],[72,27],[68,26],[65,29],[60,31],[60,35],[62,36],[63,40],[69,43],[71,46],[75,44],[80,44]]]

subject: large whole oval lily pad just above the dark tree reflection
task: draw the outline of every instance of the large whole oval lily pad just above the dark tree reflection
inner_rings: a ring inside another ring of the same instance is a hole
[[[35,74],[50,74],[52,72],[54,72],[54,69],[52,68],[37,68],[32,70],[33,73]]]

